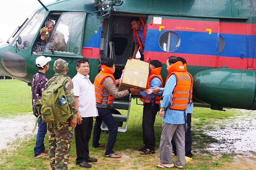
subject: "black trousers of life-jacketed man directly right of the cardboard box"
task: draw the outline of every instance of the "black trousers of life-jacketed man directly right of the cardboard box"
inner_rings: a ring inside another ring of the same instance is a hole
[[[156,114],[159,110],[159,104],[144,103],[142,117],[142,134],[143,143],[149,150],[155,150],[156,139],[154,131],[154,123]]]

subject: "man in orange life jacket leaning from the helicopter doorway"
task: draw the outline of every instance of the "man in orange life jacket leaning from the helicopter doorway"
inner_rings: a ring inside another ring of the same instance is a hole
[[[147,24],[140,17],[131,17],[130,23],[131,23],[131,28],[133,29],[133,39],[135,42],[134,51],[131,58],[135,59],[138,49],[140,48],[140,60],[144,61]]]

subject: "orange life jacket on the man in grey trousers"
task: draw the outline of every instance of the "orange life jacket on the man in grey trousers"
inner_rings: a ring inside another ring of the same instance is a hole
[[[189,94],[192,81],[190,76],[185,73],[185,68],[181,61],[174,63],[168,70],[167,80],[171,75],[177,78],[176,87],[173,89],[173,96],[170,101],[170,109],[186,110],[189,103]]]

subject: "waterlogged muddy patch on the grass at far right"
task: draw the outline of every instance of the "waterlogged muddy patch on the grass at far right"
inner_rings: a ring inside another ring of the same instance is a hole
[[[256,111],[241,111],[242,116],[219,120],[209,125],[213,129],[205,130],[207,135],[218,140],[218,142],[211,143],[206,150],[214,154],[216,158],[220,158],[223,153],[234,154],[231,163],[226,163],[227,166],[216,169],[256,169]]]

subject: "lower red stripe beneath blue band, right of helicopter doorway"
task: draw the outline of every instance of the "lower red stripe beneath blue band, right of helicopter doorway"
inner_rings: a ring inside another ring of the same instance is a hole
[[[213,56],[213,55],[201,55],[201,54],[182,54],[182,53],[165,53],[165,52],[152,52],[145,51],[144,61],[151,61],[157,59],[163,64],[170,56],[182,57],[187,61],[187,65],[193,66],[207,66],[207,67],[218,67],[228,66],[231,69],[256,69],[253,66],[253,62],[256,59],[252,58],[237,58],[237,57],[225,57],[225,56]]]

